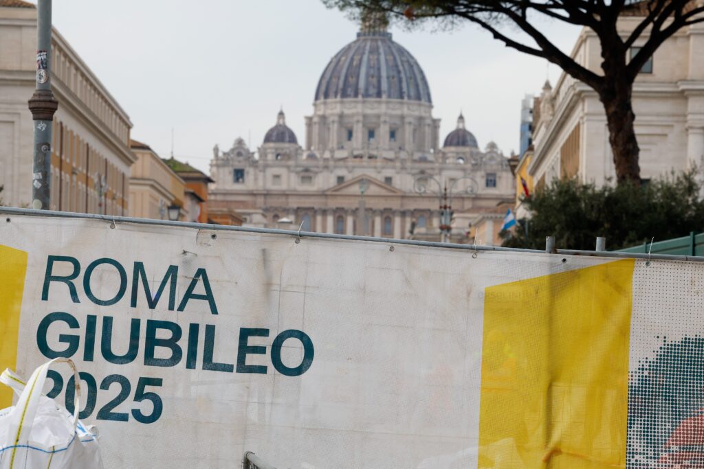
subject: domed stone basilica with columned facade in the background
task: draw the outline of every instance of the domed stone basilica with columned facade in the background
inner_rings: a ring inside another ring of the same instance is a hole
[[[462,241],[474,217],[513,197],[513,174],[462,115],[442,146],[439,124],[415,58],[383,28],[363,27],[322,72],[303,146],[283,111],[256,150],[243,139],[215,146],[208,206],[237,210],[248,226],[438,240],[447,187],[451,240]]]

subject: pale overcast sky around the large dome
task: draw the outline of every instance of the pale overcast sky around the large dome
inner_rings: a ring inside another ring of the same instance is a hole
[[[358,25],[320,0],[60,0],[54,26],[132,120],[132,138],[208,172],[212,148],[238,136],[256,148],[283,106],[301,145],[303,117],[328,61]],[[578,30],[545,23],[562,50]],[[394,40],[425,71],[441,141],[460,109],[484,148],[518,150],[520,102],[560,75],[545,60],[507,49],[467,25],[406,32]]]

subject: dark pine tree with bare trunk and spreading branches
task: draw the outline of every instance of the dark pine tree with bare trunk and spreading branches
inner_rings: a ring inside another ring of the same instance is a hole
[[[505,46],[545,58],[598,93],[609,129],[609,142],[618,180],[640,181],[639,147],[631,103],[633,83],[648,58],[681,28],[704,23],[704,6],[698,0],[323,0],[328,6],[372,8],[406,13],[408,18],[453,18],[470,21],[490,32]],[[410,14],[409,14],[410,13]],[[622,22],[628,15],[635,20]],[[592,30],[601,46],[603,75],[577,63],[543,34],[535,18],[549,18]],[[632,27],[624,33],[622,26]],[[503,30],[515,25],[534,41],[524,44]],[[644,41],[630,60],[627,52]]]

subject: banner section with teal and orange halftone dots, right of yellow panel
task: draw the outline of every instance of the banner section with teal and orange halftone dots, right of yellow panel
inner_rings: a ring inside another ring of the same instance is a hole
[[[704,469],[704,266],[636,262],[628,469]]]

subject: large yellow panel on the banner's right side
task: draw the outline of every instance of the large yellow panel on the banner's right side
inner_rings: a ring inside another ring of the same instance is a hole
[[[632,259],[486,288],[479,468],[624,468]]]

